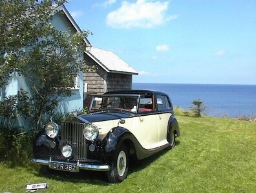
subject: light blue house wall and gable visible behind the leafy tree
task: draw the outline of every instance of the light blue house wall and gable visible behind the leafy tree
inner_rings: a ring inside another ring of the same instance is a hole
[[[59,31],[66,31],[71,35],[76,32],[81,32],[78,24],[74,21],[72,16],[69,14],[64,5],[56,7],[58,14],[53,15],[52,20],[49,21],[52,26],[54,26]],[[84,39],[85,44],[88,48],[91,47],[88,39]],[[83,53],[81,53],[83,55]],[[7,84],[3,87],[0,87],[0,100],[3,100],[5,96],[17,95],[18,91],[23,89],[30,93],[30,86],[27,84],[25,77],[17,75],[16,72],[12,73]],[[59,111],[62,112],[72,112],[74,110],[83,108],[83,72],[80,71],[80,74],[74,79],[74,86],[70,87],[74,95],[63,99],[59,103]],[[19,118],[17,120],[18,125],[24,125],[24,120]]]

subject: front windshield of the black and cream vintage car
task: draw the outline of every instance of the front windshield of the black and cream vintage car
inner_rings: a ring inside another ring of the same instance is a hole
[[[100,109],[121,109],[136,113],[139,95],[100,95],[94,96],[90,111]]]

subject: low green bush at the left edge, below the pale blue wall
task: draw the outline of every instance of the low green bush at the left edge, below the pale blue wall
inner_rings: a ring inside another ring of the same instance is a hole
[[[11,166],[28,163],[32,154],[34,132],[16,126],[18,116],[26,117],[28,113],[28,99],[24,96],[21,90],[0,101],[0,161]]]

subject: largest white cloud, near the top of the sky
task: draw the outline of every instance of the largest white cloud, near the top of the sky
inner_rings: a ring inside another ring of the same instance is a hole
[[[169,1],[123,1],[118,10],[107,15],[107,25],[112,28],[153,28],[164,24],[177,15],[166,15]]]

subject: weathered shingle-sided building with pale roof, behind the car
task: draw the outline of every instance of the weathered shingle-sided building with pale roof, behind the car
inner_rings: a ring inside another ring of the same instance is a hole
[[[92,46],[84,55],[89,66],[96,66],[95,72],[83,73],[85,98],[88,95],[131,89],[133,75],[138,72],[112,51],[101,50]]]

